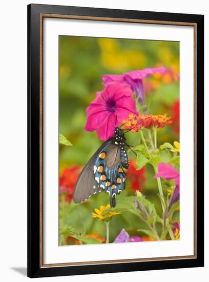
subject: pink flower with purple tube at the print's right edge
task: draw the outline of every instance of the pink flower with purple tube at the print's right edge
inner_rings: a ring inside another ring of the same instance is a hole
[[[171,206],[173,205],[173,203],[177,202],[179,200],[179,188],[180,188],[179,177],[180,177],[180,174],[171,165],[167,165],[165,163],[160,163],[158,165],[158,173],[154,176],[154,178],[157,178],[157,177],[163,177],[167,180],[174,179],[174,181],[176,183],[176,187],[174,189],[174,192],[173,192],[173,195],[171,197],[170,204],[169,204],[169,209],[170,209]]]

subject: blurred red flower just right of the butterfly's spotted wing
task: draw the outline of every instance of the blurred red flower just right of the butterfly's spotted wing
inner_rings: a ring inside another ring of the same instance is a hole
[[[131,181],[131,188],[135,192],[136,190],[141,191],[143,189],[145,177],[145,167],[140,170],[136,170],[136,161],[134,159],[130,159],[129,169],[127,171],[127,179]]]

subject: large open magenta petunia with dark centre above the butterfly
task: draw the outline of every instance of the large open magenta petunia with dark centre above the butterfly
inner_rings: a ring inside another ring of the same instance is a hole
[[[103,141],[114,135],[115,127],[128,118],[130,113],[137,113],[131,87],[118,82],[109,84],[96,93],[96,98],[86,109],[87,131],[96,130]]]

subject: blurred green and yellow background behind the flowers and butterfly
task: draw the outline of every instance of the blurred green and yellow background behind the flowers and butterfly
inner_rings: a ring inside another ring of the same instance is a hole
[[[173,144],[175,140],[179,140],[178,42],[59,36],[59,131],[73,144],[70,147],[60,145],[60,177],[67,168],[85,165],[102,144],[95,132],[84,130],[86,108],[95,98],[95,93],[104,88],[101,76],[157,66],[164,66],[168,71],[163,75],[154,74],[143,80],[149,105],[148,113],[168,113],[172,116],[173,124],[159,130],[158,145],[164,142]],[[128,133],[127,136],[129,144],[137,144],[134,134]],[[129,158],[135,159],[135,156],[129,153]],[[73,170],[69,172],[72,179],[77,177],[77,174],[73,173]],[[141,177],[139,190],[155,203],[156,210],[160,211],[152,167],[148,165],[141,174],[143,177],[140,173],[135,173],[135,177]],[[72,180],[69,185],[73,186],[73,183]],[[134,194],[136,187],[133,189],[132,185],[132,181],[128,179],[126,191],[118,197]],[[88,203],[79,205],[73,203],[71,196],[67,200],[60,194],[60,223],[72,226],[81,233],[97,232],[99,236],[104,237],[105,226],[98,219],[92,218],[91,212],[94,208],[107,204],[109,196],[105,193],[95,195]],[[136,221],[134,215],[114,216],[111,225],[114,226],[114,231],[110,234],[110,241],[114,240],[122,228],[131,235],[139,235],[136,232],[139,228],[138,218]],[[69,243],[66,238],[67,235],[62,245],[74,244]]]

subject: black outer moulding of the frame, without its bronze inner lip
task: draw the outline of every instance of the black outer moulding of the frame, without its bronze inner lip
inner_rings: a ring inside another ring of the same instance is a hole
[[[197,24],[197,258],[140,263],[40,268],[39,266],[39,14],[87,15],[150,19]],[[28,276],[47,277],[169,268],[202,267],[204,261],[203,218],[203,51],[204,16],[160,12],[126,11],[53,5],[28,6]],[[38,126],[37,126],[38,125]]]

